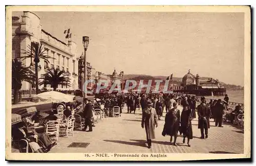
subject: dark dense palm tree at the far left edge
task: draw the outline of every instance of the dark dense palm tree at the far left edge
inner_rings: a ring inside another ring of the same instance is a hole
[[[14,104],[18,103],[19,90],[22,88],[22,81],[27,81],[34,85],[35,75],[29,67],[25,67],[17,59],[12,60],[12,89],[14,90]]]

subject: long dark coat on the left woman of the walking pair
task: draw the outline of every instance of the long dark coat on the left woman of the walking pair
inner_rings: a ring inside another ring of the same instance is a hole
[[[175,135],[178,133],[180,129],[180,110],[172,108],[170,111],[165,115],[165,123],[163,127],[162,135]]]

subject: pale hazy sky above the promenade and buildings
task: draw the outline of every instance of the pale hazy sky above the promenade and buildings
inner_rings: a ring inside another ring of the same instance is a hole
[[[82,54],[102,73],[217,78],[244,86],[244,14],[200,12],[35,12],[42,29]]]

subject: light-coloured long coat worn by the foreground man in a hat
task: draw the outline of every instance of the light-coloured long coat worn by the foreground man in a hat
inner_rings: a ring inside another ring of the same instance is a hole
[[[155,108],[150,108],[150,114],[146,114],[145,110],[148,108],[145,108],[142,110],[142,120],[141,125],[144,124],[145,130],[146,130],[146,139],[147,140],[153,140],[156,138],[155,135],[155,125],[157,124],[157,113]]]

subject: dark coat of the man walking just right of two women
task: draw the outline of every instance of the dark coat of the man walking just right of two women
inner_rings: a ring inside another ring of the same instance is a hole
[[[207,128],[210,128],[210,108],[206,105],[201,105],[198,108],[198,128],[203,128],[204,124],[204,117],[206,117],[207,120]]]

